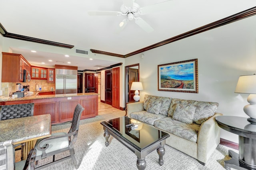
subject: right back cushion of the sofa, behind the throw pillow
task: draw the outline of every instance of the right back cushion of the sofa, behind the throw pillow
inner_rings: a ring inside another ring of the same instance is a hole
[[[209,117],[214,115],[219,106],[216,102],[201,102],[195,100],[182,100],[173,98],[168,111],[168,116],[172,117],[176,108],[176,104],[193,105],[196,106],[193,123],[201,125]]]

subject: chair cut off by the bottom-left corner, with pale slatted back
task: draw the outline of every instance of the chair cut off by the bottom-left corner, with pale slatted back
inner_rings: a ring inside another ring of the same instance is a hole
[[[15,163],[15,152],[12,140],[0,142],[0,169],[1,170],[34,170],[36,150],[30,150],[28,158]]]

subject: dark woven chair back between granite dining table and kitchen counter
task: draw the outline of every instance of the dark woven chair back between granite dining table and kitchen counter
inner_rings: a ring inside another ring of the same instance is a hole
[[[0,119],[16,119],[34,115],[34,103],[0,106]]]

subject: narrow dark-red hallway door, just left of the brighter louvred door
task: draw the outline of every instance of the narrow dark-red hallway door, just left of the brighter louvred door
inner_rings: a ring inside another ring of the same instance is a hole
[[[112,106],[112,70],[105,71],[105,103]]]

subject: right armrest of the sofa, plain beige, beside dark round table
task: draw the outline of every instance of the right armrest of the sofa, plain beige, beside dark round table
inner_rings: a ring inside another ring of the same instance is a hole
[[[222,113],[215,113],[200,126],[197,139],[197,157],[201,162],[206,163],[220,143],[220,127],[215,120],[215,117],[220,115]]]

